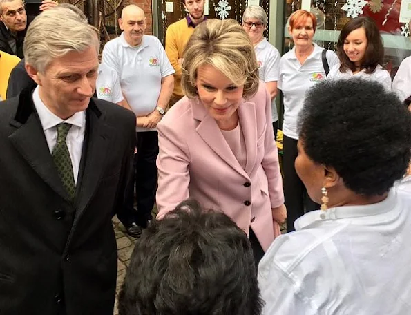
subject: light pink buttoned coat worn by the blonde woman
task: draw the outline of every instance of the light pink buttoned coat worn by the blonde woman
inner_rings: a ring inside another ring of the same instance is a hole
[[[266,251],[280,233],[271,208],[283,204],[284,195],[265,84],[260,82],[256,95],[241,102],[238,116],[247,151],[245,169],[199,99],[184,97],[164,116],[157,125],[157,217],[195,198],[206,209],[222,210],[247,234],[251,225]]]

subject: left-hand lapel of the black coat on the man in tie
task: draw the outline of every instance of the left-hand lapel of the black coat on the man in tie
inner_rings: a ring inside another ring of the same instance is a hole
[[[9,136],[10,142],[32,166],[32,169],[62,198],[70,201],[57,173],[50,149],[35,106],[32,103],[32,88],[23,90],[15,117],[10,121],[16,131]]]

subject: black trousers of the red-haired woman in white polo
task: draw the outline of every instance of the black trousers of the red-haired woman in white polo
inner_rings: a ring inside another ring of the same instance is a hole
[[[284,135],[283,138],[283,188],[285,207],[287,207],[287,232],[294,231],[294,221],[305,212],[318,210],[320,205],[309,198],[307,189],[294,167],[298,156],[297,140]]]

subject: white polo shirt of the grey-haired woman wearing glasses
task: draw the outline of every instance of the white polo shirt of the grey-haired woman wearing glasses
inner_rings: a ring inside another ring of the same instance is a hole
[[[277,48],[269,44],[269,41],[263,37],[262,41],[254,46],[254,50],[256,50],[260,79],[264,82],[278,81],[281,56]],[[276,122],[278,120],[276,99],[271,102],[271,115],[272,122]]]

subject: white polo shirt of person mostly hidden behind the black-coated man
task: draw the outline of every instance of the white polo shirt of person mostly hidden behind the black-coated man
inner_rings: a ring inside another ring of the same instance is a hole
[[[95,92],[99,99],[112,103],[122,102],[124,97],[120,87],[120,79],[113,68],[105,64],[99,65]]]

